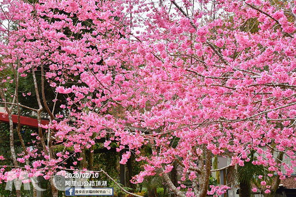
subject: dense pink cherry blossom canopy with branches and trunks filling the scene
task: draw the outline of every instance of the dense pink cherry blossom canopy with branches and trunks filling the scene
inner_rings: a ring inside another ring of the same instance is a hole
[[[295,5],[2,0],[1,72],[11,70],[14,78],[1,75],[1,103],[9,117],[13,109],[26,108],[18,102],[17,84],[33,75],[38,108],[30,109],[39,121],[34,137],[43,158],[36,160],[37,153],[24,144],[26,161],[13,152],[12,125],[13,169],[52,182],[66,164],[79,170],[70,161],[83,160],[83,150],[106,138],[105,147],[115,140],[117,151],[125,152],[120,164],[131,155],[144,161],[133,183],[157,173],[178,197],[205,197],[229,188],[209,185],[211,172],[219,170],[211,166],[215,155],[243,166],[256,152],[252,164],[263,165],[262,176],[273,178],[259,190],[274,194],[296,167]],[[7,90],[10,80],[13,92]],[[66,98],[67,104],[53,105],[63,110],[48,107],[45,83]],[[42,116],[49,125],[41,125]],[[65,149],[55,151],[52,146],[61,143]],[[150,156],[141,155],[143,145],[151,147]],[[182,168],[179,187],[168,176],[173,162]],[[1,173],[7,180],[4,166]]]

